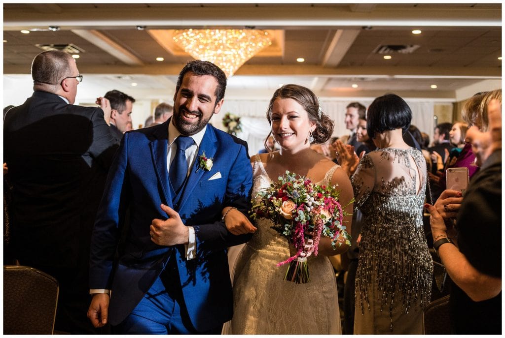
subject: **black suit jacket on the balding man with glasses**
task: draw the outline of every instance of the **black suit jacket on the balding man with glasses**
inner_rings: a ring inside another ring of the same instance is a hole
[[[22,264],[60,283],[87,267],[93,221],[117,147],[100,108],[36,91],[8,112],[4,162],[13,185],[12,241]]]

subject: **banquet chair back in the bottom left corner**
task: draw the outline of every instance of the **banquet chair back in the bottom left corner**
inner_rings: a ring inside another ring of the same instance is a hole
[[[4,265],[4,334],[53,334],[59,285],[29,266]]]

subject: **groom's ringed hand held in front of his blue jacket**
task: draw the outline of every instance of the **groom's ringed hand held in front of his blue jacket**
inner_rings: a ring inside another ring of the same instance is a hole
[[[189,241],[189,230],[172,208],[162,204],[161,209],[167,213],[167,220],[154,219],[150,226],[151,241],[158,245],[171,246],[176,244],[187,244]]]

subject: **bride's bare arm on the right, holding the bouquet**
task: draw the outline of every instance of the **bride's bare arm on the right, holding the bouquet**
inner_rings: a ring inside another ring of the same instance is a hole
[[[350,203],[349,205],[347,205],[347,202],[349,202],[352,199],[352,197],[354,197],[354,192],[352,191],[352,185],[350,183],[349,177],[347,176],[347,173],[342,168],[338,168],[337,170],[335,170],[335,173],[333,174],[333,178],[331,180],[331,184],[333,185],[338,184],[337,189],[341,190],[339,198],[340,204],[342,205],[342,209],[345,210],[348,214],[350,214],[349,216],[344,216],[343,225],[346,227],[345,231],[347,231],[347,233],[350,234],[350,228],[352,223],[351,214],[353,204]],[[349,247],[347,246],[347,244],[345,244],[345,238],[342,235],[340,235],[338,240],[342,244],[340,246],[337,244],[336,250],[334,250],[331,246],[331,239],[328,237],[321,237],[321,240],[319,241],[318,245],[318,251],[319,251],[318,254],[324,256],[333,256],[347,251]]]

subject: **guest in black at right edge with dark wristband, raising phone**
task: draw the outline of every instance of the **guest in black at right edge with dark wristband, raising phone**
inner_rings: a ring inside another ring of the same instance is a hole
[[[487,110],[482,130],[487,130],[487,120],[489,129],[481,131],[474,125],[467,131],[468,142],[483,161],[480,171],[464,198],[458,191],[445,190],[435,206],[425,206],[431,214],[433,248],[453,281],[449,298],[452,334],[502,333],[501,90],[490,92],[482,103]]]

